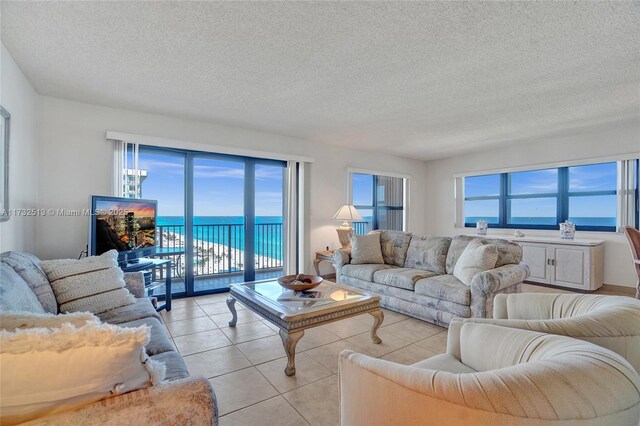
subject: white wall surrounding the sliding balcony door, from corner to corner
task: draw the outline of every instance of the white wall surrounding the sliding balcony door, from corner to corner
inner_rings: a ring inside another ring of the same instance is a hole
[[[339,224],[332,222],[331,217],[344,203],[348,167],[411,175],[416,187],[409,212],[411,230],[419,233],[425,230],[425,194],[420,187],[425,182],[426,170],[422,161],[44,96],[40,97],[39,112],[38,188],[42,208],[87,208],[89,195],[111,193],[113,145],[105,141],[105,131],[114,130],[314,158],[307,194],[312,255],[326,246],[339,247],[335,232]],[[87,218],[45,217],[39,222],[40,257],[77,257],[84,249]],[[310,261],[305,270],[310,270]]]

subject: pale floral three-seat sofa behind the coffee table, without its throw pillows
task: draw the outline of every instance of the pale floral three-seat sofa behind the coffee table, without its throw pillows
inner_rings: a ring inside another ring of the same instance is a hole
[[[474,238],[380,232],[384,264],[351,264],[349,250],[336,251],[336,281],[381,297],[381,305],[448,327],[453,318],[485,318],[496,294],[520,293],[529,277],[522,248],[511,241],[481,239],[498,251],[494,269],[476,274],[467,286],[453,276],[456,262]]]

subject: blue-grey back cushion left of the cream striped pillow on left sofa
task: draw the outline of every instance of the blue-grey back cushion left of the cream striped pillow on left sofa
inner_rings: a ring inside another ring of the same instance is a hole
[[[40,269],[40,259],[32,254],[16,251],[2,253],[0,258],[25,280],[46,312],[58,313],[58,302],[47,276]]]

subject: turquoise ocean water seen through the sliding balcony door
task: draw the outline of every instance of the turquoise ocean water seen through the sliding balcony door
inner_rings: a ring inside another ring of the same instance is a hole
[[[230,245],[232,249],[244,250],[244,227],[241,226],[243,223],[242,216],[195,216],[193,235],[196,240]],[[256,255],[282,260],[282,216],[256,216],[256,225],[261,225],[256,226],[255,230]],[[184,235],[182,216],[158,216],[156,226]]]

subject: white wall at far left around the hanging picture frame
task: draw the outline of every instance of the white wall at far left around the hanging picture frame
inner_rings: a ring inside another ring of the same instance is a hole
[[[38,95],[4,44],[1,49],[0,104],[11,114],[9,208],[35,208],[38,200]],[[33,217],[12,216],[9,221],[0,223],[0,252],[7,250],[36,251],[36,220]]]

